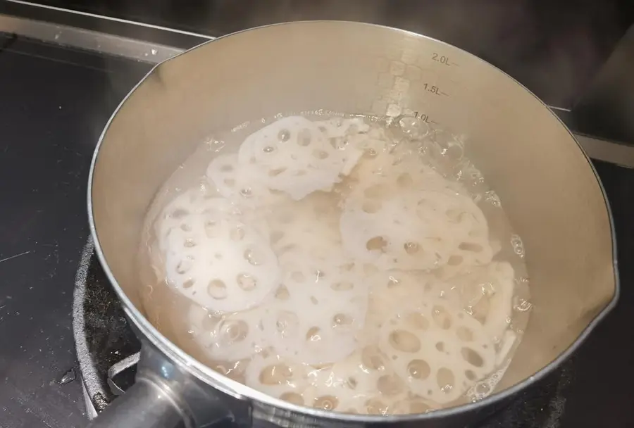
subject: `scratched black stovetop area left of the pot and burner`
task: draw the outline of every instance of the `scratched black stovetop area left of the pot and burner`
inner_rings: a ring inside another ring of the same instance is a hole
[[[59,380],[79,374],[70,312],[87,175],[148,68],[0,33],[0,428],[86,424],[79,380]]]

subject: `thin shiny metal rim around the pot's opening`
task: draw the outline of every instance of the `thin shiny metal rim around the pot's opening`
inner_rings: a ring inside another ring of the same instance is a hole
[[[99,158],[99,149],[101,148],[101,144],[104,141],[106,133],[108,132],[108,128],[111,125],[111,122],[119,113],[120,109],[123,107],[125,102],[128,101],[128,98],[130,97],[130,95],[133,92],[135,92],[135,90],[141,84],[143,84],[145,80],[147,80],[149,75],[154,73],[157,70],[157,68],[161,66],[161,64],[166,63],[167,61],[172,61],[173,59],[178,58],[181,55],[185,55],[186,53],[188,53],[189,51],[193,51],[194,49],[199,49],[200,47],[205,46],[206,44],[216,42],[220,39],[224,39],[225,37],[230,37],[234,34],[240,34],[242,32],[250,32],[254,30],[261,30],[267,27],[275,27],[278,25],[307,25],[307,24],[312,25],[315,23],[336,23],[339,25],[359,25],[359,26],[366,26],[366,27],[380,27],[387,30],[409,34],[414,37],[423,37],[424,39],[428,39],[432,42],[443,44],[445,46],[450,46],[454,49],[459,49],[459,51],[463,52],[464,54],[468,56],[471,56],[471,58],[473,58],[475,61],[480,61],[481,63],[488,65],[492,69],[497,70],[499,73],[502,73],[504,77],[513,80],[516,84],[518,84],[520,87],[526,90],[528,94],[532,95],[537,101],[539,101],[542,104],[544,108],[547,108],[550,111],[550,113],[554,116],[554,118],[556,118],[559,121],[560,125],[564,127],[564,129],[570,135],[571,139],[575,141],[575,143],[577,144],[578,149],[585,156],[585,159],[588,162],[588,165],[592,169],[592,172],[594,173],[595,178],[597,179],[599,188],[601,189],[604,203],[608,213],[609,222],[610,222],[610,236],[612,241],[612,266],[613,266],[613,272],[614,272],[614,295],[612,296],[611,301],[609,301],[609,303],[592,319],[592,321],[588,324],[588,326],[585,327],[585,329],[583,329],[583,331],[579,334],[579,336],[573,342],[573,344],[571,344],[571,346],[568,346],[568,348],[566,348],[566,350],[562,352],[557,358],[555,358],[554,360],[552,360],[552,362],[542,367],[541,370],[534,373],[530,377],[524,379],[521,382],[518,382],[517,384],[509,387],[508,389],[504,389],[503,391],[499,391],[499,392],[494,392],[493,394],[483,398],[482,400],[475,401],[472,403],[466,403],[463,405],[457,405],[451,408],[443,408],[440,410],[434,410],[429,413],[412,413],[408,415],[356,415],[356,414],[349,414],[349,413],[337,413],[337,412],[321,410],[316,408],[306,408],[304,406],[292,404],[287,401],[283,401],[280,398],[274,398],[273,396],[264,394],[261,391],[257,391],[256,389],[253,389],[249,386],[241,384],[240,382],[236,382],[232,379],[229,379],[228,377],[225,377],[223,374],[216,372],[215,370],[211,369],[211,367],[208,367],[204,365],[203,363],[199,363],[198,360],[192,358],[185,351],[182,351],[180,347],[178,347],[176,344],[174,344],[172,341],[166,338],[166,336],[163,336],[163,334],[161,334],[161,332],[159,332],[159,330],[156,329],[156,327],[154,327],[154,325],[152,325],[151,322],[149,322],[149,320],[147,320],[147,318],[144,317],[144,315],[142,315],[139,309],[136,308],[135,305],[132,304],[132,301],[130,301],[130,298],[126,296],[125,292],[118,284],[116,278],[114,277],[112,271],[110,270],[110,267],[108,266],[108,263],[106,262],[104,253],[101,250],[101,244],[99,243],[99,237],[97,236],[97,229],[94,224],[94,216],[92,212],[93,211],[92,210],[93,208],[92,207],[92,184],[94,179],[94,168]],[[293,413],[308,415],[309,417],[336,419],[339,422],[375,424],[375,423],[397,423],[397,422],[411,422],[411,421],[422,422],[423,420],[431,420],[431,419],[442,418],[442,417],[452,417],[452,416],[461,415],[467,412],[472,412],[472,411],[475,412],[478,410],[482,410],[483,408],[489,405],[493,405],[495,403],[498,403],[499,401],[503,401],[505,398],[509,398],[510,396],[513,396],[514,394],[518,393],[522,389],[528,388],[528,386],[533,385],[535,382],[546,377],[548,374],[552,373],[555,369],[557,369],[557,367],[559,367],[561,363],[567,360],[572,355],[572,353],[574,353],[579,348],[579,346],[588,338],[592,330],[594,330],[595,327],[597,327],[599,322],[601,322],[604,319],[604,317],[608,313],[610,313],[611,310],[614,309],[614,307],[616,306],[616,303],[619,301],[619,295],[621,294],[621,285],[619,283],[619,271],[618,271],[617,258],[616,258],[617,251],[616,251],[616,233],[614,229],[614,218],[612,216],[609,201],[607,199],[607,194],[599,178],[599,175],[597,174],[597,170],[595,169],[594,165],[592,165],[592,162],[590,161],[590,158],[588,158],[588,155],[585,153],[585,151],[583,151],[579,142],[574,137],[572,132],[568,129],[568,127],[566,127],[564,122],[562,122],[561,119],[556,114],[554,114],[541,99],[535,96],[533,92],[531,92],[523,84],[515,80],[513,77],[511,77],[504,71],[495,67],[495,65],[487,63],[487,61],[484,61],[478,56],[475,56],[472,53],[469,53],[460,48],[457,48],[456,46],[453,46],[452,44],[442,42],[440,40],[434,39],[433,37],[428,37],[423,34],[418,34],[416,32],[402,30],[399,28],[389,27],[387,25],[359,23],[359,22],[345,21],[345,20],[304,20],[304,21],[293,21],[293,22],[286,22],[286,23],[275,23],[271,25],[262,25],[259,27],[247,28],[245,30],[240,30],[237,32],[232,32],[230,34],[225,34],[216,39],[211,39],[208,42],[201,43],[197,46],[194,46],[191,49],[188,49],[187,51],[179,53],[178,55],[173,56],[172,58],[169,58],[166,61],[163,61],[162,63],[154,65],[154,67],[151,68],[151,70],[147,73],[147,75],[145,75],[142,78],[142,80],[140,80],[135,85],[135,87],[133,87],[130,90],[130,92],[125,96],[125,98],[119,103],[116,110],[112,113],[111,117],[108,119],[108,122],[106,122],[106,125],[104,126],[104,130],[101,132],[101,135],[99,136],[99,141],[97,142],[97,146],[95,148],[93,158],[92,158],[92,163],[90,165],[90,171],[89,171],[89,177],[88,177],[88,189],[87,189],[87,202],[88,202],[87,208],[88,208],[89,227],[90,227],[90,234],[92,235],[92,239],[94,241],[94,251],[97,253],[97,257],[99,258],[99,262],[104,268],[104,272],[106,272],[108,281],[112,284],[113,288],[116,291],[117,296],[123,302],[125,314],[128,315],[130,320],[132,320],[132,322],[135,323],[139,331],[142,332],[142,334],[144,334],[144,336],[147,339],[149,339],[149,341],[151,341],[151,344],[156,346],[156,348],[158,348],[161,352],[167,355],[168,358],[175,360],[175,362],[178,363],[178,365],[180,366],[182,370],[186,370],[190,374],[194,375],[194,377],[197,377],[198,379],[200,379],[202,382],[209,384],[213,388],[216,388],[225,394],[228,394],[234,398],[250,399],[251,401],[259,402],[260,405],[261,404],[270,405],[275,408],[282,408],[284,410],[289,410]]]

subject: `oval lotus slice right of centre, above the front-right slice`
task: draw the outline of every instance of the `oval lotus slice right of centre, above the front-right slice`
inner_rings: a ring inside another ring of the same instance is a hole
[[[460,263],[492,257],[482,212],[470,198],[451,192],[358,187],[344,203],[340,229],[352,256],[383,269],[435,269],[454,261],[451,256],[467,244],[479,251],[459,253]]]

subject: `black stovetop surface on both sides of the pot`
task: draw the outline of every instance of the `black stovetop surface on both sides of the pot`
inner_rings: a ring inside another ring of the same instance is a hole
[[[101,128],[149,67],[0,36],[2,428],[87,422],[71,329],[75,272],[88,236],[87,174]],[[634,426],[629,398],[634,343],[627,339],[634,322],[634,265],[627,263],[634,257],[634,170],[595,165],[614,212],[621,301],[562,372],[543,385],[542,398],[523,398],[512,413],[516,422],[544,417],[542,426],[548,428]],[[108,304],[116,308],[116,301]],[[115,331],[126,328],[118,315],[93,321]],[[120,338],[109,337],[94,338],[93,346],[105,348]],[[73,378],[69,370],[77,379],[65,383]],[[557,389],[563,400],[543,401]],[[554,422],[548,420],[553,414]],[[491,426],[522,426],[514,423]]]

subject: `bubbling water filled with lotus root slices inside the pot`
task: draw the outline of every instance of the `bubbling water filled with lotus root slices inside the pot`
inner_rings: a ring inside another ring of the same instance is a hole
[[[421,413],[490,394],[528,322],[528,279],[459,139],[416,118],[308,115],[217,137],[147,216],[142,299],[163,334],[327,410]]]

